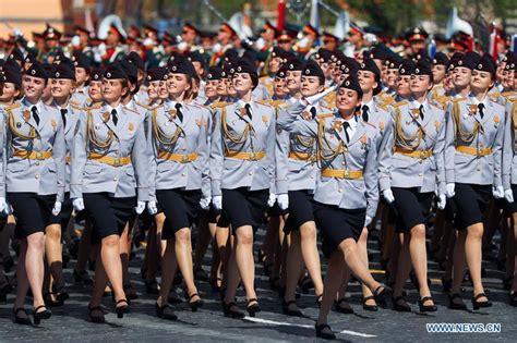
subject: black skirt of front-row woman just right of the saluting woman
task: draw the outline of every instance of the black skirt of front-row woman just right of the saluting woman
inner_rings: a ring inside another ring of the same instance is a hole
[[[431,212],[433,192],[419,193],[417,187],[393,187],[395,208],[397,209],[397,232],[409,232],[411,228],[425,224],[425,218]]]

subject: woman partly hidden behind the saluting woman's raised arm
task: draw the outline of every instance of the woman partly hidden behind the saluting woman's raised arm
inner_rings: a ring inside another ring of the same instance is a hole
[[[314,61],[309,61],[302,70],[300,91],[305,98],[317,96],[325,86],[325,75]],[[317,103],[308,106],[303,115],[305,121],[314,121],[324,112]],[[329,109],[326,109],[330,112]],[[285,112],[280,112],[284,114]],[[280,115],[281,115],[280,114]],[[287,115],[287,113],[285,113]],[[320,253],[316,244],[316,224],[314,222],[313,194],[318,176],[315,163],[315,139],[302,135],[277,132],[277,193],[281,210],[289,210],[286,229],[290,233],[291,244],[287,253],[286,295],[282,309],[289,316],[300,317],[302,313],[296,303],[297,283],[303,261],[314,283],[314,291],[321,301],[323,281]]]

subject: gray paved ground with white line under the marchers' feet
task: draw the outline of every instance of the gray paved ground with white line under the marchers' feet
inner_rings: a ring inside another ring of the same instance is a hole
[[[372,245],[372,249],[373,249]],[[13,295],[8,304],[0,305],[0,341],[117,341],[117,342],[147,342],[147,341],[247,341],[247,342],[279,342],[279,341],[315,341],[314,320],[317,309],[313,295],[303,295],[300,305],[304,318],[291,318],[281,314],[277,293],[268,287],[267,279],[263,275],[262,267],[257,267],[257,287],[262,313],[255,318],[242,320],[225,318],[218,302],[218,294],[212,293],[207,283],[200,283],[205,306],[199,313],[191,313],[184,305],[177,306],[178,322],[164,321],[155,317],[155,297],[145,294],[143,282],[140,279],[140,266],[143,258],[143,248],[136,250],[136,257],[131,261],[133,284],[140,297],[132,302],[131,314],[123,319],[117,319],[110,299],[104,304],[109,314],[105,324],[94,324],[87,321],[87,302],[89,289],[73,283],[73,261],[65,270],[67,281],[70,283],[71,298],[64,306],[53,308],[50,320],[43,321],[40,327],[22,327],[12,323],[11,307]],[[206,270],[208,270],[206,259]],[[495,264],[486,264],[488,277],[484,279],[490,298],[494,306],[478,311],[453,311],[447,308],[447,298],[441,292],[437,280],[441,272],[434,262],[430,264],[430,277],[434,280],[432,292],[438,305],[438,311],[433,315],[418,313],[418,293],[410,286],[409,299],[412,313],[400,314],[390,309],[381,309],[377,313],[364,311],[360,305],[359,284],[350,287],[351,305],[354,315],[333,313],[329,324],[338,339],[342,341],[514,341],[517,335],[517,309],[507,305],[507,294],[502,289],[501,272],[495,270]],[[378,254],[374,254],[372,268],[378,268]],[[384,281],[382,273],[375,278]],[[467,286],[465,297],[470,296]],[[240,292],[239,302],[244,308],[244,296]],[[469,309],[471,305],[469,304]],[[428,333],[426,323],[432,322],[469,322],[469,323],[501,323],[501,333]]]

